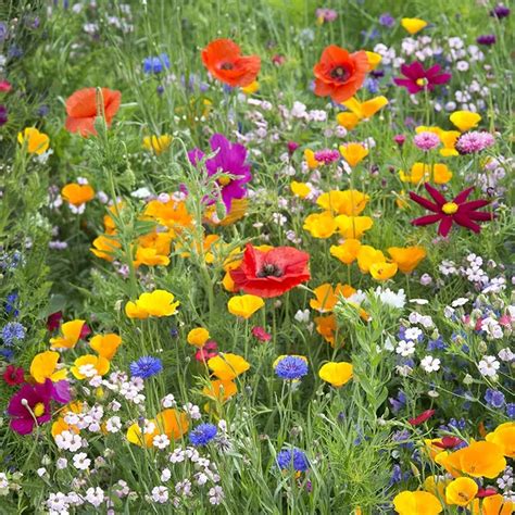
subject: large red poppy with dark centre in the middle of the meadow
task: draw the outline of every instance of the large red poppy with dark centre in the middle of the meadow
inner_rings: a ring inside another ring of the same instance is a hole
[[[271,298],[310,280],[310,254],[293,247],[259,250],[248,244],[241,264],[230,271],[238,289],[246,293]]]

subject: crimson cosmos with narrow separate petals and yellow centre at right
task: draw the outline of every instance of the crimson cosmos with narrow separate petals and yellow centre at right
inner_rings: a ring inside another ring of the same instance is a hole
[[[474,187],[464,189],[452,201],[448,201],[436,188],[428,183],[424,184],[427,192],[432,197],[435,202],[420,197],[419,194],[410,191],[410,198],[417,204],[420,204],[426,210],[432,211],[435,214],[420,216],[419,218],[412,219],[413,225],[429,225],[440,222],[438,227],[438,234],[445,237],[451,230],[452,224],[456,223],[462,227],[479,233],[481,228],[477,222],[487,222],[493,218],[492,213],[485,213],[483,211],[477,211],[480,208],[485,208],[490,202],[488,200],[472,200],[465,202],[468,196],[474,190]]]

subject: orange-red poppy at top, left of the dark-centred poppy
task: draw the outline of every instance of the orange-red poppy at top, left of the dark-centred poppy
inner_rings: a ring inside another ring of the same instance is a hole
[[[233,88],[249,86],[260,73],[258,55],[241,55],[241,50],[230,39],[215,39],[202,50],[202,62],[213,77]]]

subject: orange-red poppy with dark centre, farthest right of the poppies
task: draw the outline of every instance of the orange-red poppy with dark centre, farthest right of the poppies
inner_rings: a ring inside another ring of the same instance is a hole
[[[349,53],[336,45],[329,45],[313,68],[315,95],[329,96],[338,103],[344,102],[362,87],[369,70],[365,51]]]

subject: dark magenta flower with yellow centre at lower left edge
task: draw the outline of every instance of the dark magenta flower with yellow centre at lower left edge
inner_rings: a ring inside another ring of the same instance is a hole
[[[67,381],[53,384],[47,379],[42,385],[26,382],[9,401],[8,414],[11,418],[11,429],[20,435],[29,435],[34,426],[40,426],[52,418],[51,401],[62,404],[70,402],[70,386]]]

